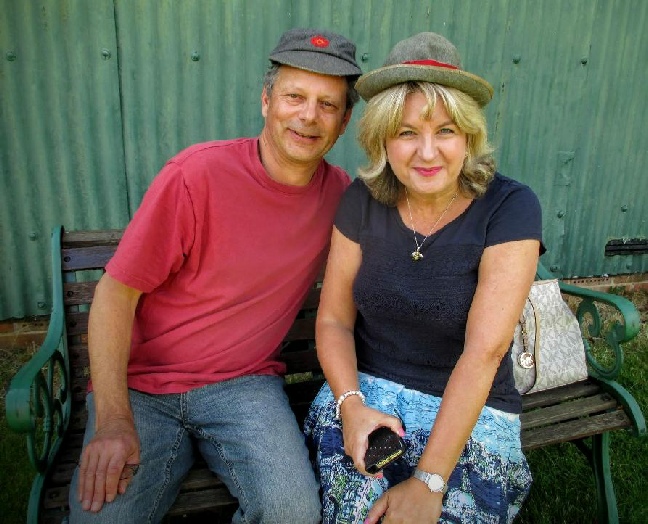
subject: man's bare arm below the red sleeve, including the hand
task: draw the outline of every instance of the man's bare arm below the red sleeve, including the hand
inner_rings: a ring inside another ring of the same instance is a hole
[[[77,496],[84,510],[99,511],[124,493],[125,464],[139,463],[139,439],[128,398],[126,370],[135,308],[142,292],[107,273],[95,290],[88,325],[95,435],[81,454]]]

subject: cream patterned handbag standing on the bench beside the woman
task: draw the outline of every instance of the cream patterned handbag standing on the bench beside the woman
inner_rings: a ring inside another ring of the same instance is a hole
[[[531,286],[511,346],[515,387],[535,393],[587,378],[578,320],[560,294],[558,280]]]

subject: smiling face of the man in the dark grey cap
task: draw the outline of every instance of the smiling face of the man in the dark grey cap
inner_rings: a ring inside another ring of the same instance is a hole
[[[270,95],[261,95],[264,154],[284,169],[314,169],[349,122],[346,92],[343,77],[281,66]]]

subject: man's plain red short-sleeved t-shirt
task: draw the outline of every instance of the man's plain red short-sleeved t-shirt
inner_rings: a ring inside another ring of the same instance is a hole
[[[328,252],[350,180],[322,161],[286,186],[258,139],[192,146],[153,180],[107,272],[143,291],[128,386],[180,393],[251,374],[280,374],[279,345]]]

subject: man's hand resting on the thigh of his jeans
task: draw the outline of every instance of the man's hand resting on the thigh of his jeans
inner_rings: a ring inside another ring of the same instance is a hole
[[[77,496],[86,511],[97,512],[126,488],[139,464],[139,438],[133,421],[111,419],[97,430],[79,463]]]

